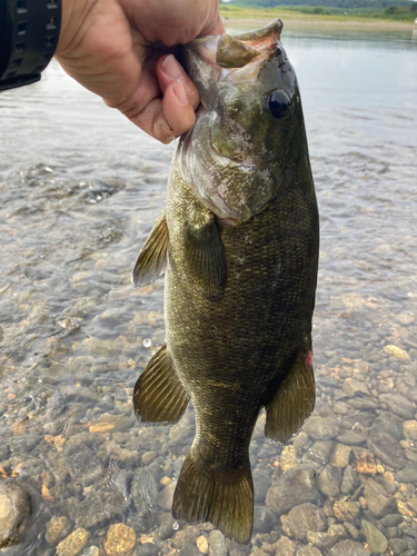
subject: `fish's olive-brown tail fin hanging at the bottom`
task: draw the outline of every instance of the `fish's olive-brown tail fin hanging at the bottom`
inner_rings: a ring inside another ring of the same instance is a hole
[[[247,545],[254,525],[249,460],[245,469],[210,469],[191,447],[173,494],[172,515],[188,524],[210,522],[226,537]]]

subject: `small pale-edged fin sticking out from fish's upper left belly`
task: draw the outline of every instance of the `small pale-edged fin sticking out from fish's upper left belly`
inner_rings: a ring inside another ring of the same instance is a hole
[[[165,210],[159,215],[148,239],[135,264],[131,280],[133,286],[147,286],[166,270],[168,252],[168,227]]]

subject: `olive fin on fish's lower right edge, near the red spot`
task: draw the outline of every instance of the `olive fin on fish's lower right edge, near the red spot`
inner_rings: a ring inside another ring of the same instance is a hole
[[[307,341],[307,346],[310,342]],[[311,348],[302,349],[277,394],[266,406],[265,436],[286,443],[315,408],[316,388]]]

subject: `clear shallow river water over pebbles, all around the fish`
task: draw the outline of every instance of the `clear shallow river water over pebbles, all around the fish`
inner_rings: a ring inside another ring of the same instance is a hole
[[[32,507],[9,554],[417,554],[417,41],[285,30],[282,43],[321,219],[317,404],[285,447],[259,417],[248,547],[171,518],[192,409],[173,427],[132,414],[163,341],[163,280],[133,290],[130,270],[175,145],[56,62],[1,93],[0,523],[10,485]]]

